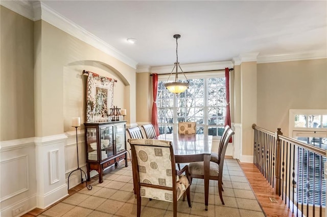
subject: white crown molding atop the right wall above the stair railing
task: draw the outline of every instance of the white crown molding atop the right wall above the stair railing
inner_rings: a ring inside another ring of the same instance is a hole
[[[280,53],[258,57],[258,63],[277,63],[300,60],[315,60],[327,58],[326,50],[311,50],[297,53]]]

